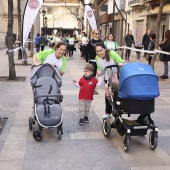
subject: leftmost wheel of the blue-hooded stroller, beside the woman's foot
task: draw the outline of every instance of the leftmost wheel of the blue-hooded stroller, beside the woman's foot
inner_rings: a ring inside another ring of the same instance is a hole
[[[102,124],[102,128],[103,128],[103,134],[106,138],[110,137],[111,134],[111,123],[110,123],[110,119],[109,117],[105,117],[103,119],[103,124]]]

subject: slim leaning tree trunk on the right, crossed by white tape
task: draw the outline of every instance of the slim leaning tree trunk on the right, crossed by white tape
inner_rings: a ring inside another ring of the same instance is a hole
[[[163,11],[164,5],[165,5],[165,0],[160,0],[159,13],[158,13],[158,18],[156,22],[156,49],[158,49],[158,46],[159,46],[159,30],[160,30],[162,11]],[[157,55],[158,54],[155,53],[152,57],[151,66],[153,69],[154,69],[154,63],[155,63]]]

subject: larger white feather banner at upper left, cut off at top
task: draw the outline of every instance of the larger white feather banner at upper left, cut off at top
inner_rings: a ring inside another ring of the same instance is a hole
[[[29,32],[31,31],[31,27],[35,21],[35,18],[41,8],[43,0],[27,0],[25,5],[25,10],[23,14],[23,22],[22,22],[22,46],[28,38]]]

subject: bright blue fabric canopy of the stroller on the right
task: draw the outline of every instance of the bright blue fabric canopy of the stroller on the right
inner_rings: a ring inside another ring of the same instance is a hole
[[[158,77],[148,64],[126,64],[120,71],[119,97],[150,100],[159,96]]]

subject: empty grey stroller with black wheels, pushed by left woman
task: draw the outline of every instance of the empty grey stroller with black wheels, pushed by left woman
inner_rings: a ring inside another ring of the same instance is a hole
[[[57,128],[58,139],[61,140],[62,130],[62,100],[60,87],[62,85],[58,68],[50,64],[33,66],[31,69],[31,86],[34,95],[34,115],[29,117],[29,129],[32,130],[35,122],[38,129],[34,130],[33,137],[42,141],[43,128]]]

